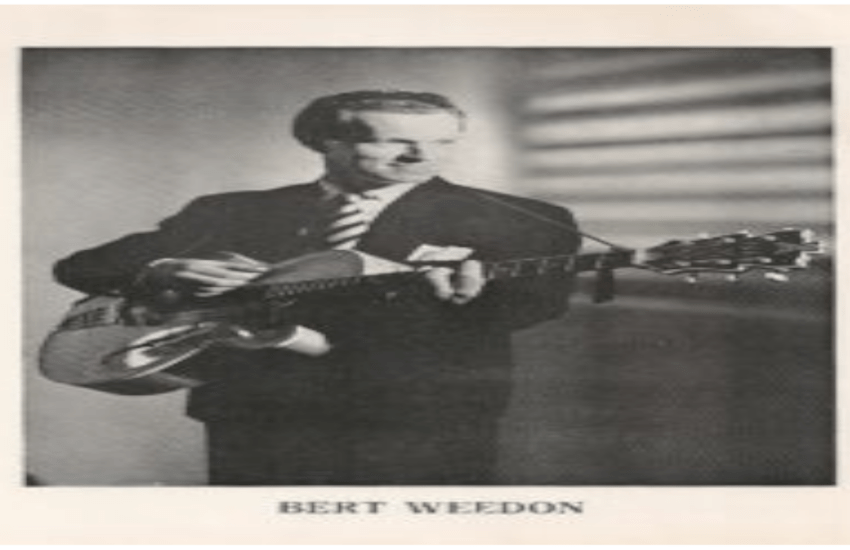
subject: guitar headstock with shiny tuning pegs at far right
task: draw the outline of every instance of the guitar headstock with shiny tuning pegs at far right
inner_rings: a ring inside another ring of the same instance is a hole
[[[788,272],[805,269],[814,254],[825,252],[808,229],[783,229],[753,235],[741,231],[690,241],[669,241],[643,251],[635,262],[667,275],[685,274],[695,280],[699,273],[725,273],[735,279],[748,271],[764,272],[776,281]]]

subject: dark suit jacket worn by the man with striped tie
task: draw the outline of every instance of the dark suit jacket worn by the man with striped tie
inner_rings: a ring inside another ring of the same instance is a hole
[[[319,205],[316,184],[201,197],[155,231],[60,261],[55,274],[72,288],[107,293],[128,289],[158,258],[222,250],[266,262],[297,257],[321,247]],[[569,254],[579,246],[572,227],[560,207],[437,178],[387,207],[358,248],[396,261],[421,244],[469,247],[483,260]],[[302,324],[328,333],[333,352],[207,352],[198,360],[220,379],[193,391],[189,414],[406,424],[498,417],[510,388],[510,332],[561,314],[570,283],[565,275],[492,281],[465,306],[381,294],[317,302]]]

